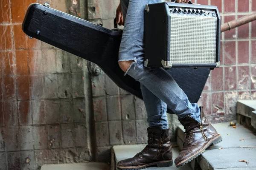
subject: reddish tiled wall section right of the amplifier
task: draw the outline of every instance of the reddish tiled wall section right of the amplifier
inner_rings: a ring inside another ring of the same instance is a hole
[[[218,6],[222,23],[256,12],[255,0],[195,0]],[[199,104],[212,122],[236,117],[236,101],[256,99],[256,21],[221,33],[221,67],[211,71]]]

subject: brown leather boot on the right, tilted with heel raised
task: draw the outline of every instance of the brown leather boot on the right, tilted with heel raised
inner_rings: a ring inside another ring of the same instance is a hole
[[[183,149],[175,159],[176,167],[183,166],[201,155],[210,145],[215,145],[222,141],[221,135],[206,120],[203,106],[200,107],[200,110],[201,124],[190,116],[180,120],[186,130],[186,140],[183,143]]]

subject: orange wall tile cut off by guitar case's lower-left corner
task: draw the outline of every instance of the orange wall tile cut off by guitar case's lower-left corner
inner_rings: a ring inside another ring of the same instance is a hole
[[[13,26],[15,48],[26,48],[26,34],[21,29],[21,25]]]

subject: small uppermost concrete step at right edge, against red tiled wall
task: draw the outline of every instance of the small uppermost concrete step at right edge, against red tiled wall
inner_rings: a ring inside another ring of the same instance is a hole
[[[237,120],[244,127],[256,128],[255,115],[253,111],[256,111],[256,100],[238,100],[236,105]],[[254,116],[252,118],[252,116]]]

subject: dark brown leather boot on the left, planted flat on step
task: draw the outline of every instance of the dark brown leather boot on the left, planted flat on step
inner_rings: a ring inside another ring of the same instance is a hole
[[[172,166],[172,146],[169,129],[148,127],[148,145],[133,158],[119,161],[119,170],[140,170],[151,165],[157,167]]]

